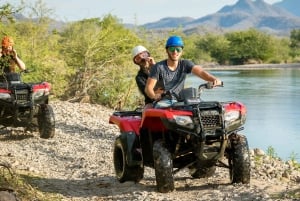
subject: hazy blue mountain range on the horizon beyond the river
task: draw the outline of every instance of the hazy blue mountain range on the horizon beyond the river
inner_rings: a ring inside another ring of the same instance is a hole
[[[297,8],[295,2],[294,7]],[[270,34],[288,35],[292,29],[300,28],[300,17],[279,6],[265,3],[263,0],[239,0],[234,5],[224,6],[218,12],[198,19],[164,18],[144,24],[143,27],[146,29],[182,27],[187,33],[193,33],[199,29],[226,32],[256,28]]]

